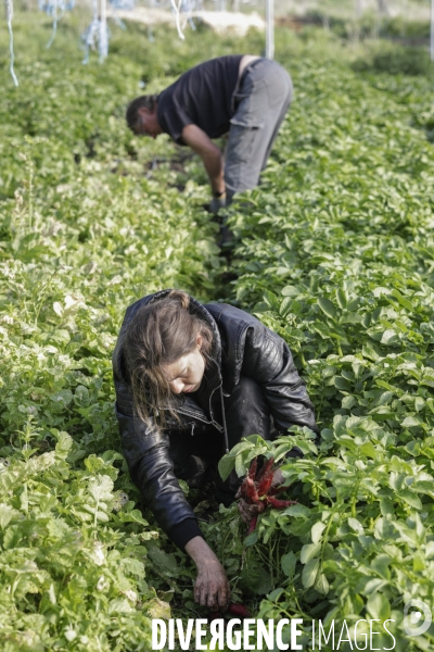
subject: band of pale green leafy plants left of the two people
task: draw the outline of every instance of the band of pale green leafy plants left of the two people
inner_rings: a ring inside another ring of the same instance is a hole
[[[47,20],[34,20],[14,21],[17,89],[1,68],[0,648],[150,650],[150,618],[167,617],[174,594],[192,604],[193,572],[138,509],[111,353],[139,297],[218,291],[217,227],[197,160],[124,124],[146,60],[125,50],[139,52],[144,30],[114,28],[119,53],[81,66],[67,16],[49,51]],[[178,59],[178,41],[158,38],[145,48],[155,76]],[[181,47],[179,66],[199,50]],[[170,578],[157,562],[173,554]]]

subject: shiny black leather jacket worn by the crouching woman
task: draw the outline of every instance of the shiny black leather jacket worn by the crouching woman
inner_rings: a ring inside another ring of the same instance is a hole
[[[153,511],[168,536],[170,529],[184,519],[195,519],[195,515],[175,477],[167,432],[158,431],[152,424],[145,424],[133,414],[123,341],[136,312],[143,304],[158,301],[169,292],[170,290],[162,290],[128,308],[113,354],[116,416],[124,455],[144,504]],[[293,425],[317,430],[312,404],[294,366],[290,349],[281,337],[248,313],[232,305],[202,305],[193,298],[190,305],[213,329],[212,354],[220,369],[225,394],[230,396],[243,374],[263,388],[278,430],[285,431]],[[210,423],[204,411],[187,394],[183,394],[178,412],[186,427],[192,427],[197,422]]]

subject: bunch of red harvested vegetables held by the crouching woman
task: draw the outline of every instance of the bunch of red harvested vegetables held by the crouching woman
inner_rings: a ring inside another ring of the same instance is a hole
[[[247,502],[247,504],[255,505],[258,514],[264,512],[267,506],[275,510],[283,510],[296,504],[293,500],[280,500],[276,498],[278,493],[281,493],[288,487],[279,484],[276,486],[275,474],[277,469],[273,468],[273,464],[275,457],[270,457],[258,471],[258,459],[255,457],[240,487],[239,497]],[[253,516],[250,523],[248,534],[253,532],[256,523],[257,514]]]

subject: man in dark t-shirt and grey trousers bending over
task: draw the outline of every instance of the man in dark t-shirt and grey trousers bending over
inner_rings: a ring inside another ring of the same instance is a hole
[[[212,59],[191,68],[159,96],[141,96],[127,109],[138,135],[168,134],[202,158],[213,192],[210,210],[255,188],[290,106],[290,75],[251,54]],[[225,161],[213,142],[229,133]]]

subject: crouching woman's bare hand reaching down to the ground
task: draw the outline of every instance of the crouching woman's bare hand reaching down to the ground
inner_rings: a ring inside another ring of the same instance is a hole
[[[197,567],[194,582],[194,601],[210,611],[225,612],[230,601],[230,586],[225,568],[202,537],[194,537],[186,552]]]

